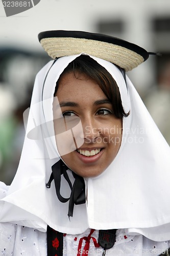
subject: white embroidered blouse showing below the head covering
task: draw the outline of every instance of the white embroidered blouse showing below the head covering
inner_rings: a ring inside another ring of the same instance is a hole
[[[0,188],[0,199],[5,197],[7,190]],[[80,239],[87,237],[90,229],[82,234],[66,234],[63,237],[63,255],[76,256]],[[98,242],[99,231],[94,230],[91,237]],[[79,249],[80,254],[83,252],[85,240]],[[118,229],[116,232],[116,242],[114,246],[106,250],[106,255],[111,256],[134,256],[134,255],[155,255],[161,253],[167,255],[167,248],[170,247],[170,241],[154,242],[142,235],[129,236],[124,229]],[[102,256],[103,249],[95,247],[93,239],[90,239],[88,255]],[[20,226],[13,223],[0,223],[0,255],[5,256],[46,256],[47,242],[46,232],[41,232],[34,228]],[[49,255],[48,255],[49,256]],[[51,255],[50,255],[51,256]]]

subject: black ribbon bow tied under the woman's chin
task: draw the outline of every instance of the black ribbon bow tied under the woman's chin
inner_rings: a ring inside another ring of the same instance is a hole
[[[51,174],[51,177],[50,177],[48,183],[46,184],[46,187],[50,188],[51,183],[54,180],[57,197],[58,197],[59,201],[62,203],[66,203],[69,201],[68,217],[72,217],[75,204],[76,205],[84,204],[86,202],[85,183],[84,183],[84,179],[82,177],[80,177],[79,175],[72,172],[72,175],[75,178],[75,182],[72,185],[69,180],[68,174],[66,172],[67,169],[68,169],[68,167],[64,164],[64,162],[62,160],[59,160],[57,163],[55,163],[52,166],[52,174]],[[70,193],[69,198],[64,198],[60,194],[61,175],[64,176],[65,180],[67,181],[67,183],[70,187],[71,193]]]

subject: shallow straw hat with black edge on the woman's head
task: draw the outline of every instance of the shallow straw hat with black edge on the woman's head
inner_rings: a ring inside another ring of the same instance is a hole
[[[44,31],[40,44],[53,59],[86,53],[110,61],[125,71],[147,60],[149,53],[131,42],[116,37],[83,31]]]

